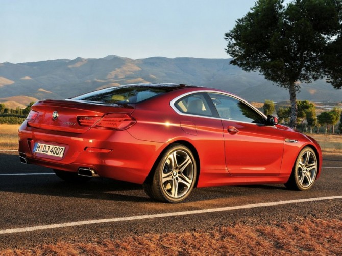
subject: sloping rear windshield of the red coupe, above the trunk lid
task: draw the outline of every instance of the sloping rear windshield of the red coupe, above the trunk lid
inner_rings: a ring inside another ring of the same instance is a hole
[[[97,103],[139,103],[145,99],[167,92],[166,88],[148,86],[117,86],[89,92],[74,100],[93,101]]]

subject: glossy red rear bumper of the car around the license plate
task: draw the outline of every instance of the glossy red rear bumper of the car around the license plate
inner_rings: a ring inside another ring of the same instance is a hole
[[[35,142],[65,146],[62,158],[34,153]],[[19,129],[20,161],[52,169],[77,172],[89,168],[99,176],[142,184],[167,143],[137,140],[127,131],[90,129],[83,134],[67,134],[27,127]],[[89,152],[87,147],[110,149]]]

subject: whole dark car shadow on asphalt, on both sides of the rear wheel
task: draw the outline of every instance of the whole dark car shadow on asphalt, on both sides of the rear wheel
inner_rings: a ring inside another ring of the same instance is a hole
[[[51,169],[45,167],[21,164],[17,155],[0,154],[0,164],[3,166],[0,169],[0,174],[52,173]],[[200,202],[224,198],[234,199],[235,197],[248,194],[262,194],[264,190],[285,189],[281,184],[199,188],[195,189],[185,202]],[[62,181],[55,174],[2,176],[0,179],[0,191],[96,200],[156,202],[144,193],[142,185],[102,177],[92,178],[85,183],[69,183]]]

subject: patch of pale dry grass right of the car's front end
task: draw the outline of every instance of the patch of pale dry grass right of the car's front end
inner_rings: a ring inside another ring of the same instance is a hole
[[[309,134],[321,146],[323,153],[342,154],[342,134]]]

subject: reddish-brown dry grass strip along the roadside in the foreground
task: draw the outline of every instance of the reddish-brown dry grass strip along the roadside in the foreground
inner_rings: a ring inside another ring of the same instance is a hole
[[[92,243],[5,249],[0,255],[341,255],[341,220],[304,220],[268,226],[238,224],[209,232],[145,234]]]

